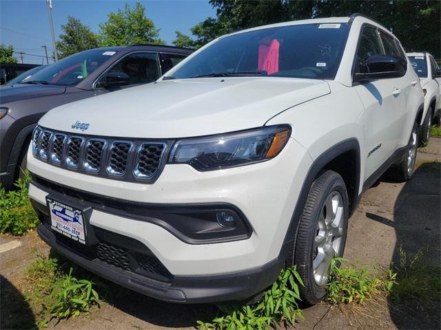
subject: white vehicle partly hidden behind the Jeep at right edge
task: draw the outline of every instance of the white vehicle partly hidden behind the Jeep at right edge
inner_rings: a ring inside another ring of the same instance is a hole
[[[430,127],[433,122],[440,124],[441,110],[441,72],[435,58],[428,52],[407,53],[412,67],[420,77],[424,93],[424,111],[418,118],[420,125],[420,144],[429,142]]]

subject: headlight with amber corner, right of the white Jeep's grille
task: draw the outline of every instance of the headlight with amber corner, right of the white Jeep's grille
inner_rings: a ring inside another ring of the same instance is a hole
[[[283,125],[178,140],[168,163],[189,164],[196,170],[217,170],[263,162],[276,157],[290,135],[291,127]]]

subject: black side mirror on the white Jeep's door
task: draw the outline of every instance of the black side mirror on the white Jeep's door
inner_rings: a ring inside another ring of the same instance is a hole
[[[397,78],[403,75],[404,65],[398,58],[387,55],[373,55],[367,58],[364,73],[356,74],[357,81],[382,78]]]

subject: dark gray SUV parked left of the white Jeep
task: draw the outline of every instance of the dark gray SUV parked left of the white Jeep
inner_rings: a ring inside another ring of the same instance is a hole
[[[152,83],[193,51],[161,45],[86,50],[0,89],[0,183],[10,188],[25,168],[38,120],[59,105]]]

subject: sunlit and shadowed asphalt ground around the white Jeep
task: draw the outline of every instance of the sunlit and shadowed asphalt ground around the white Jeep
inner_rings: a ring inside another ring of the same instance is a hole
[[[389,267],[400,245],[409,252],[429,247],[429,256],[440,262],[440,189],[439,167],[428,164],[441,161],[441,139],[431,139],[429,147],[418,153],[418,169],[407,184],[381,179],[363,195],[358,210],[349,221],[345,257],[372,265]],[[0,236],[0,245],[17,240]],[[1,301],[2,318],[28,314],[28,303],[19,292],[23,270],[35,252],[47,254],[49,249],[32,232],[18,239],[21,245],[0,254],[1,296],[14,297]],[[10,243],[10,246],[16,243]],[[26,292],[24,292],[26,294]],[[195,320],[209,320],[213,309],[207,305],[188,306],[162,303],[130,290],[112,286],[110,303],[101,304],[90,318],[60,322],[58,329],[192,329]],[[403,307],[404,308],[404,307]],[[17,311],[19,311],[17,313]],[[306,320],[298,329],[435,329],[438,316],[418,310],[400,309],[387,300],[367,304],[362,311],[350,308],[317,305],[304,310]],[[4,320],[4,319],[3,319]]]

